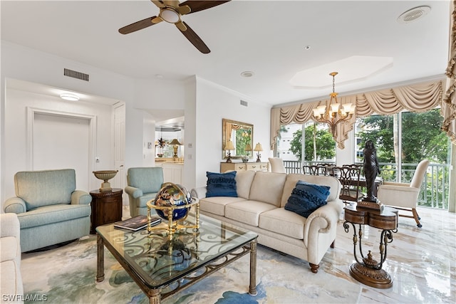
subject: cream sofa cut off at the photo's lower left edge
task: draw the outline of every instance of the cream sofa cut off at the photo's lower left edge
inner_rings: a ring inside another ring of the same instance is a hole
[[[24,303],[21,234],[16,214],[0,214],[1,303]]]

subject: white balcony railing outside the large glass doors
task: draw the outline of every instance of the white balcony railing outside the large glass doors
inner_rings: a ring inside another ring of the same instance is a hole
[[[306,162],[306,164],[321,164],[322,162]],[[331,164],[331,162],[324,162]],[[334,162],[332,162],[334,164]],[[400,182],[410,183],[418,164],[402,164]],[[299,161],[284,160],[286,173],[302,174],[302,164]],[[386,182],[397,182],[398,169],[393,163],[380,163],[380,177]],[[421,185],[418,206],[448,210],[448,195],[450,192],[450,165],[429,164],[427,174]]]

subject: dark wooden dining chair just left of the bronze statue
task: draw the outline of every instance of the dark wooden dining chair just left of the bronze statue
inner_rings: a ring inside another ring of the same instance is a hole
[[[333,167],[332,175],[341,182],[342,189],[339,199],[345,204],[350,201],[359,201],[363,197],[359,182],[360,167]]]

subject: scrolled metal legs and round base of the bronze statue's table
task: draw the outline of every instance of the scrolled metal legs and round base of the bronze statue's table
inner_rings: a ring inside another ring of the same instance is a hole
[[[346,232],[349,230],[348,221],[343,223],[343,228]],[[361,230],[361,224],[359,225],[359,251],[362,257],[362,261],[358,260],[356,254],[356,243],[358,238],[356,236],[356,226],[353,223],[350,223],[353,226],[353,255],[355,256],[356,263],[351,264],[350,274],[357,281],[369,285],[375,288],[390,288],[393,286],[393,279],[390,277],[389,273],[382,269],[383,263],[386,260],[386,248],[388,243],[393,241],[393,231],[388,229],[383,229],[380,237],[380,263],[373,259],[371,251],[368,251],[368,256],[363,255],[361,238],[363,236]]]

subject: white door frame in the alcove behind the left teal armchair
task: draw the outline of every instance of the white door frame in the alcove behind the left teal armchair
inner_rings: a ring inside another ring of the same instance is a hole
[[[96,134],[97,134],[97,117],[95,115],[86,115],[73,112],[63,112],[56,110],[47,110],[40,108],[27,107],[27,147],[26,147],[26,168],[33,170],[33,125],[35,114],[55,115],[60,117],[70,117],[78,119],[86,119],[89,121],[89,142],[88,142],[88,185],[90,187],[90,172],[95,167],[95,147],[96,147]]]

